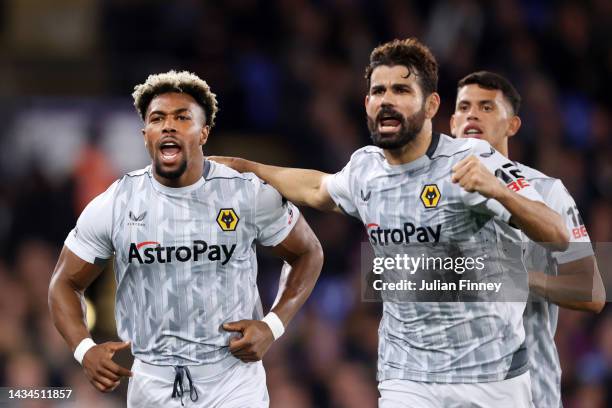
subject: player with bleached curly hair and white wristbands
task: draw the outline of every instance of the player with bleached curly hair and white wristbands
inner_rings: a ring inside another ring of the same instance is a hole
[[[189,406],[267,407],[259,360],[312,291],[320,244],[274,188],[204,159],[217,112],[206,82],[170,71],[149,76],[133,97],[152,164],[117,180],[79,217],[49,287],[53,321],[98,390],[130,377],[130,407],[176,407],[183,393]],[[265,317],[256,242],[292,267]],[[111,257],[123,342],[96,345],[83,292]],[[131,371],[112,360],[130,346]]]

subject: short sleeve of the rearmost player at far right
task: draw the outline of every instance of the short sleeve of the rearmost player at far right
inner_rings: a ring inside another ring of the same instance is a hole
[[[563,252],[552,253],[557,263],[564,264],[593,255],[591,239],[576,202],[561,180],[553,184],[546,197],[546,204],[561,215],[570,235],[569,247]]]

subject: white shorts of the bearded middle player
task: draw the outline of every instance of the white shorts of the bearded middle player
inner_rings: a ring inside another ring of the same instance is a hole
[[[380,408],[532,408],[529,372],[508,380],[443,384],[385,380],[378,384]]]

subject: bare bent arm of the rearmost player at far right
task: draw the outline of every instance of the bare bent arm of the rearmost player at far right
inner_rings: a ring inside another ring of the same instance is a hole
[[[529,272],[529,288],[568,309],[599,313],[606,304],[606,290],[592,255],[560,264],[556,276]]]

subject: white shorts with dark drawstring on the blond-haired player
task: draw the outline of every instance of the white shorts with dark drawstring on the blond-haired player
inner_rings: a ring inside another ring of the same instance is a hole
[[[183,378],[184,393],[172,398],[175,369],[134,360],[128,385],[127,406],[147,407],[207,407],[207,408],[268,408],[270,398],[266,388],[266,373],[261,361],[236,364],[220,373],[206,372],[206,366],[188,367],[197,390],[197,401],[192,401],[189,382]]]

